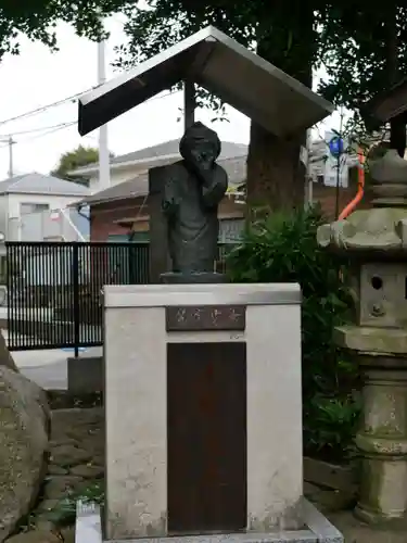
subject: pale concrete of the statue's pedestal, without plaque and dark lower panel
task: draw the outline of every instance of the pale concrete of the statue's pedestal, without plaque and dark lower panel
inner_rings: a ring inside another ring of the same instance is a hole
[[[191,351],[202,343],[244,348],[246,522],[242,523],[251,533],[282,528],[282,519],[287,530],[301,528],[292,515],[303,493],[300,302],[298,285],[105,287],[110,539],[167,536],[168,345],[177,343],[190,344]],[[236,305],[245,306],[243,330],[240,326],[230,330],[216,319],[220,326],[215,329],[167,329],[170,308],[181,307],[182,315],[182,307]]]

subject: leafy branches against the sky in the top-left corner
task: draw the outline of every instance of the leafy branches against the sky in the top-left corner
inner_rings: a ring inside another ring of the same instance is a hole
[[[18,35],[56,48],[59,21],[72,24],[79,36],[103,37],[102,17],[119,11],[125,0],[2,0],[0,2],[0,58],[18,53]]]

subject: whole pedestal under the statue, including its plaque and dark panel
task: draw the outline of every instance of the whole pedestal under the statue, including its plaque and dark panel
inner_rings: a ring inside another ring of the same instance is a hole
[[[107,539],[303,528],[300,287],[104,302]]]

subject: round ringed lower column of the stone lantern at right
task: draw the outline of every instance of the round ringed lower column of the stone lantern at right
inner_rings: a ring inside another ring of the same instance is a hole
[[[404,518],[407,507],[407,358],[360,357],[364,454],[356,514],[367,522]]]

